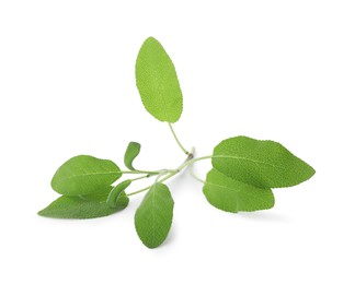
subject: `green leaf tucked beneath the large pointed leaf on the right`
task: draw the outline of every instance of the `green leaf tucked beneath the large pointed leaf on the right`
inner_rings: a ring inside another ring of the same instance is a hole
[[[217,169],[207,174],[204,194],[215,208],[233,213],[271,209],[275,204],[271,189],[256,188],[231,179]]]

